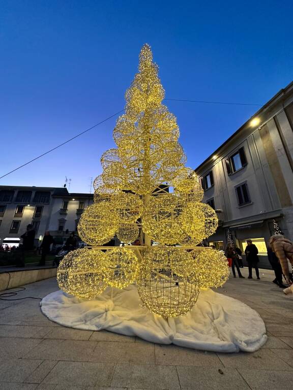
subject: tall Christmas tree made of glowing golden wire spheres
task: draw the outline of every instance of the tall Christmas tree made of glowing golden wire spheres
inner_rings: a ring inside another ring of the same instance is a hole
[[[78,224],[89,247],[65,256],[57,279],[66,293],[88,299],[107,286],[135,282],[152,312],[178,316],[191,310],[200,287],[217,287],[228,278],[223,254],[196,248],[215,233],[218,219],[200,203],[203,190],[185,167],[177,121],[162,104],[164,89],[149,45],[141,49],[139,72],[125,98],[125,114],[113,132],[117,148],[102,155],[94,204]],[[141,245],[101,247],[114,235],[126,243],[139,238]]]

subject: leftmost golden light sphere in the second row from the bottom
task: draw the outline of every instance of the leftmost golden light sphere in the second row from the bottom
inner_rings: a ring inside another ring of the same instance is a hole
[[[77,226],[78,235],[89,245],[103,245],[114,237],[118,222],[111,202],[94,203],[82,213]]]

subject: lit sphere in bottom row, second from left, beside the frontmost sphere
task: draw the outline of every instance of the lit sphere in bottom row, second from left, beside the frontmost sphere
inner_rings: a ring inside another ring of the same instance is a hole
[[[112,287],[123,288],[137,277],[138,260],[132,249],[107,250],[105,281]]]

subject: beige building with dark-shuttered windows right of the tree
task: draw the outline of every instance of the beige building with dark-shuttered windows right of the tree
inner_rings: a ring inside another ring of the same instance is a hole
[[[277,221],[293,240],[293,82],[195,169],[204,203],[218,212],[220,226],[209,243],[225,247],[228,231],[244,250],[250,238],[262,266]]]

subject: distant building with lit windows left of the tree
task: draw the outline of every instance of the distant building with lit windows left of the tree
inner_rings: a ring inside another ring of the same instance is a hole
[[[0,244],[18,246],[31,223],[36,246],[45,231],[62,245],[71,232],[77,231],[83,210],[93,200],[93,194],[69,193],[63,187],[0,186]]]

